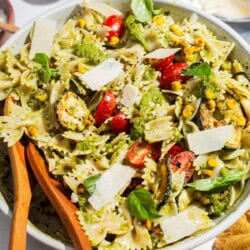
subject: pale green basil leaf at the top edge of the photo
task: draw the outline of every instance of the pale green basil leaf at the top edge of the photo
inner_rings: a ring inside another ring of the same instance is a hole
[[[153,16],[152,0],[132,0],[130,7],[135,19],[139,22],[147,22]]]

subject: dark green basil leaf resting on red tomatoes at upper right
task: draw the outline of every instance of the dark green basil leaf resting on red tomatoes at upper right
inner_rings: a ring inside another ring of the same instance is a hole
[[[189,68],[185,69],[183,74],[188,76],[198,76],[209,78],[211,75],[211,67],[208,63],[193,63]]]

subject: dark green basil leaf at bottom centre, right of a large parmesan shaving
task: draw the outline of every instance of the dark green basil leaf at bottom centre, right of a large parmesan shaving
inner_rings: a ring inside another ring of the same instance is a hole
[[[133,190],[127,199],[129,212],[138,220],[156,219],[160,215],[150,192],[144,188]]]

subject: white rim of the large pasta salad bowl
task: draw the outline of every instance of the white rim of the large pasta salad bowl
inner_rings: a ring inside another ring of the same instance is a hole
[[[90,0],[93,1],[93,0]],[[77,4],[81,4],[82,0],[71,0],[70,2],[64,2],[64,3],[58,3],[50,10],[47,10],[46,12],[42,13],[41,15],[34,17],[31,19],[26,25],[24,25],[16,34],[14,34],[2,47],[1,50],[7,49],[11,47],[17,38],[20,37],[21,33],[25,31],[29,31],[31,27],[33,26],[33,23],[35,20],[40,18],[47,18],[48,16],[52,15],[55,12],[63,11],[67,8],[73,7]],[[171,0],[155,0],[156,4],[162,4],[162,5],[169,5],[173,7],[177,7],[179,9],[188,10],[190,12],[198,14],[200,17],[204,18],[208,22],[214,24],[215,26],[222,29],[224,32],[226,32],[230,37],[233,38],[233,40],[237,41],[239,45],[250,55],[250,46],[248,43],[238,34],[235,30],[233,30],[228,24],[224,23],[219,18],[212,16],[208,13],[205,13],[204,11],[184,6],[181,3],[176,3]],[[232,225],[237,219],[240,218],[241,215],[243,215],[248,209],[250,208],[250,196],[246,197],[240,204],[237,204],[237,211],[232,211],[230,214],[228,214],[222,221],[220,221],[218,224],[216,224],[213,228],[209,229],[207,232],[202,233],[201,235],[198,235],[197,237],[194,237],[190,239],[190,242],[185,243],[185,245],[178,244],[177,246],[168,246],[166,249],[172,249],[172,250],[185,250],[185,249],[193,249],[194,247],[197,247],[198,245],[201,245],[208,240],[214,238],[216,235],[227,229],[230,225]],[[4,199],[1,199],[1,192],[0,192],[0,210],[8,216],[12,215],[12,212],[10,208],[8,207],[6,201]],[[65,245],[59,240],[56,240],[52,238],[51,236],[43,233],[40,231],[36,226],[34,226],[31,222],[28,223],[27,226],[27,232],[29,235],[31,235],[33,238],[37,239],[41,243],[53,247],[55,249],[60,250],[72,250],[73,248],[70,246]]]

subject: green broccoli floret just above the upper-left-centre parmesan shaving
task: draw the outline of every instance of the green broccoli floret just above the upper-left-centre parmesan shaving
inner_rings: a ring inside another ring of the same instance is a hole
[[[93,65],[102,63],[108,58],[94,43],[87,41],[82,41],[82,43],[77,44],[74,53],[79,57],[84,57],[88,63]]]

